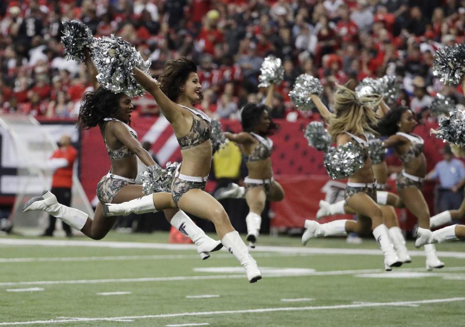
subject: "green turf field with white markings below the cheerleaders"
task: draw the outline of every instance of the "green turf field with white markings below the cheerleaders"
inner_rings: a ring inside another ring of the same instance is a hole
[[[433,272],[410,242],[413,262],[384,272],[374,240],[263,236],[252,251],[263,279],[249,284],[225,250],[202,261],[167,240],[0,237],[0,326],[465,324],[464,242],[436,245],[446,267]]]

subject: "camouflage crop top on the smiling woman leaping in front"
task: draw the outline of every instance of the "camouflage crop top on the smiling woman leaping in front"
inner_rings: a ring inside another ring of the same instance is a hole
[[[210,117],[202,113],[200,110],[190,109],[181,104],[180,106],[186,108],[192,115],[192,127],[190,128],[190,131],[186,136],[178,137],[178,143],[181,150],[197,147],[206,140],[209,140],[212,133]]]

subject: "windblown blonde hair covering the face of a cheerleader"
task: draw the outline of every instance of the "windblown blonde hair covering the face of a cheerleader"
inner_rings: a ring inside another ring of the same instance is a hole
[[[334,93],[334,114],[328,122],[328,131],[335,140],[336,136],[347,131],[355,135],[365,131],[376,133],[372,126],[376,126],[378,119],[373,111],[382,100],[379,95],[357,97],[349,88],[338,85]]]

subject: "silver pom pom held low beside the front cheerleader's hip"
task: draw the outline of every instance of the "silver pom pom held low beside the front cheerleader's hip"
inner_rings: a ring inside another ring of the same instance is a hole
[[[145,195],[158,192],[171,192],[171,183],[174,178],[174,172],[178,167],[178,163],[166,163],[166,169],[163,169],[157,164],[147,167],[147,170],[140,173],[142,181],[142,192]]]

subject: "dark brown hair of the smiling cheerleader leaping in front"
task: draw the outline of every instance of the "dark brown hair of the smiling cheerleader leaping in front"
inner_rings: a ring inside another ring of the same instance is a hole
[[[180,87],[187,81],[190,73],[197,73],[197,65],[188,57],[168,60],[163,68],[163,74],[160,75],[158,81],[161,83],[160,89],[176,102],[181,94]],[[200,100],[203,100],[203,93],[199,93]]]

